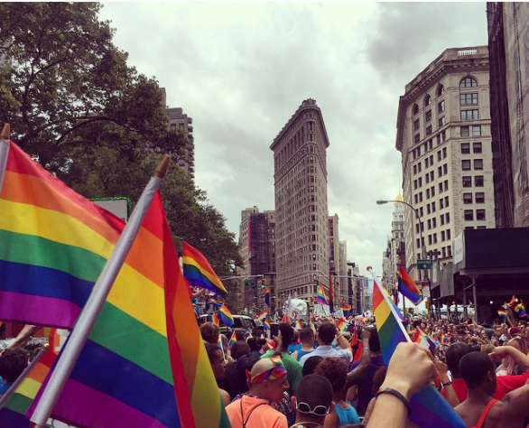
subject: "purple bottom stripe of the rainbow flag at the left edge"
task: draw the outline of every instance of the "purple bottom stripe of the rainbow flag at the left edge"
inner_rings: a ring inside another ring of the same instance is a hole
[[[73,302],[52,297],[0,291],[0,312],[3,321],[20,320],[24,313],[28,324],[42,325],[46,320],[50,327],[71,328],[80,309]]]

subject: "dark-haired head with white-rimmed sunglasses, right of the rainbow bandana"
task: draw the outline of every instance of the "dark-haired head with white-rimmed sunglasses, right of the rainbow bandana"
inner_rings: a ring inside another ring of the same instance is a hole
[[[302,377],[292,396],[292,407],[296,410],[296,422],[323,424],[334,407],[329,380],[319,375]]]

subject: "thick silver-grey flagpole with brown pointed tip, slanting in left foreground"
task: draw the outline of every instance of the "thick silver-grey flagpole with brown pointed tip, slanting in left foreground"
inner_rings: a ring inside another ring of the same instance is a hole
[[[123,233],[117,240],[114,251],[112,251],[107,264],[99,275],[92,293],[90,293],[88,302],[85,304],[83,311],[79,315],[79,320],[77,321],[75,328],[70,333],[68,344],[62,350],[62,355],[57,362],[57,366],[53,370],[48,385],[42,392],[42,397],[30,419],[32,423],[36,423],[37,426],[43,427],[46,425],[51,411],[57,403],[68,377],[70,377],[71,371],[79,358],[79,354],[88,339],[88,335],[96,323],[97,316],[103,308],[103,304],[107,299],[110,288],[112,287],[112,284],[114,284],[116,276],[125,262],[125,257],[142,225],[145,214],[151,206],[154,195],[162,185],[163,178],[169,165],[169,160],[170,157],[166,155],[145,187],[131,218],[126,224]]]

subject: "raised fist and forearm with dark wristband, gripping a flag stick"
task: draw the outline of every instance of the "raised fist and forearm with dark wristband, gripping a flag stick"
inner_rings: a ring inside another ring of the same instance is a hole
[[[399,343],[381,389],[392,388],[409,402],[412,395],[430,384],[436,374],[429,350],[417,343]],[[391,394],[380,394],[366,428],[404,428],[407,418],[407,408],[401,400]]]

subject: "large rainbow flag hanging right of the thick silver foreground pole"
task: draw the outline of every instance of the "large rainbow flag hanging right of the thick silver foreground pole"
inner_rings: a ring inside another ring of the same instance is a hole
[[[79,427],[229,426],[214,384],[157,193],[51,416]]]

